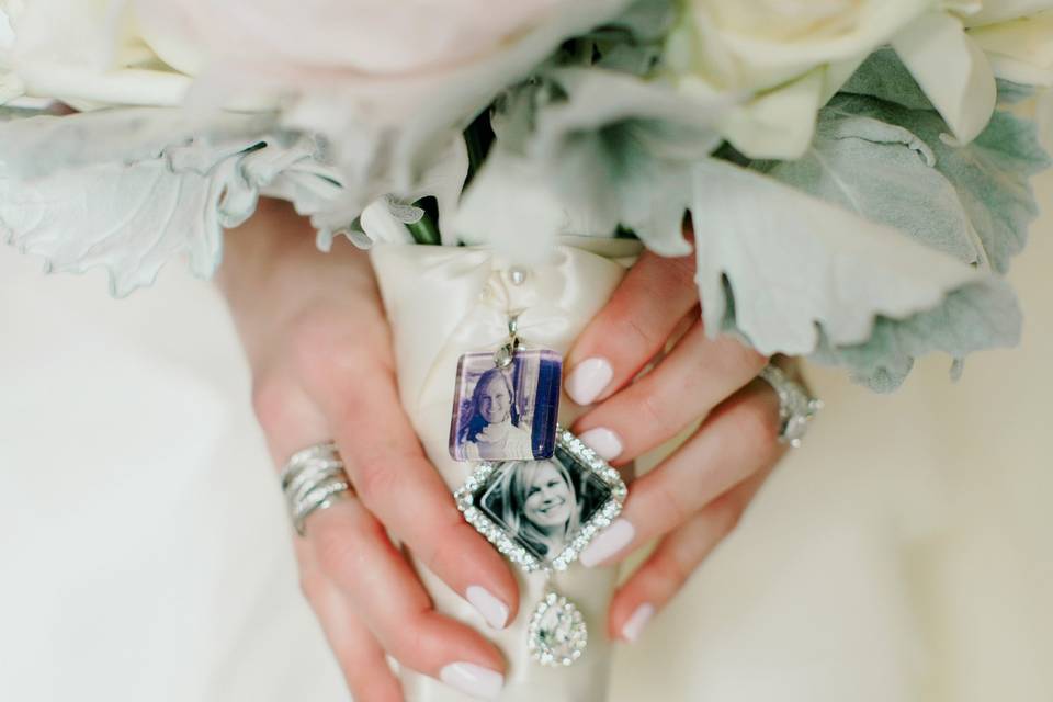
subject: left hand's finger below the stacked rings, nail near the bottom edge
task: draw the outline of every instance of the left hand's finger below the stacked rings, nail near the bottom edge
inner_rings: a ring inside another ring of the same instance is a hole
[[[320,571],[344,593],[382,649],[467,694],[500,692],[500,652],[475,630],[434,611],[405,555],[358,499],[312,516],[307,542]]]

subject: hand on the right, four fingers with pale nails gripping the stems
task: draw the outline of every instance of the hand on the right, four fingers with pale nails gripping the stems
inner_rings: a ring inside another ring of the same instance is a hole
[[[581,553],[593,566],[659,539],[611,602],[611,635],[627,641],[735,526],[784,451],[778,396],[756,380],[767,359],[733,338],[705,336],[693,261],[644,253],[567,358],[571,399],[596,404],[574,431],[614,465],[705,418],[630,487],[621,518]]]

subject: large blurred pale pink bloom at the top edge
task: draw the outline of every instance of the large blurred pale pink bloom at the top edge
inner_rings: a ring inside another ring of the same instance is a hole
[[[492,55],[568,0],[136,0],[146,26],[202,41],[218,60],[397,78]],[[584,3],[589,4],[589,3]],[[595,2],[592,4],[596,4]]]

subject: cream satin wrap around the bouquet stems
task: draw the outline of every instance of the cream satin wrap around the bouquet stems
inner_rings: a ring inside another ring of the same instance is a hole
[[[566,353],[639,250],[634,240],[565,237],[551,263],[529,270],[516,285],[509,278],[510,262],[487,248],[378,245],[372,249],[394,335],[403,405],[428,457],[451,490],[473,469],[472,464],[453,461],[448,448],[457,359],[468,351],[496,350],[508,338],[512,310],[521,310],[520,336],[529,347]],[[559,417],[564,426],[580,411],[563,397]],[[591,702],[607,698],[607,608],[615,568],[574,565],[553,577],[553,586],[585,615],[589,645],[569,668],[547,668],[534,663],[526,649],[526,625],[543,592],[543,575],[523,576],[516,570],[519,615],[508,629],[495,632],[460,595],[422,564],[415,565],[440,611],[483,632],[505,653],[508,670],[501,700]],[[415,702],[468,699],[410,671],[403,672],[403,684],[407,699]]]

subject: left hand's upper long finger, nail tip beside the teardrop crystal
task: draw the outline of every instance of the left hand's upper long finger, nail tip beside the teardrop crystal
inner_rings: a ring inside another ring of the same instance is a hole
[[[516,579],[505,561],[461,516],[424,456],[401,409],[389,370],[329,375],[314,389],[362,503],[414,554],[467,599],[490,626],[517,612]]]

